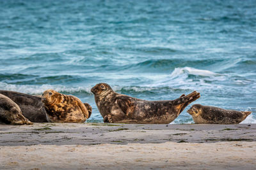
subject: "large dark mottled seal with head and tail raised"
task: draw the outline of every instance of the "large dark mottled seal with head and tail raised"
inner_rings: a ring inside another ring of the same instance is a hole
[[[173,101],[145,101],[118,94],[107,83],[99,83],[91,91],[104,122],[109,123],[170,124],[200,97],[198,92],[192,92]]]

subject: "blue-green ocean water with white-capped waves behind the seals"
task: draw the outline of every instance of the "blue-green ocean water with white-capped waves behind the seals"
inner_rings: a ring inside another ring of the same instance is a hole
[[[71,94],[102,122],[100,82],[152,101],[197,90],[256,123],[256,1],[0,1],[0,89]]]

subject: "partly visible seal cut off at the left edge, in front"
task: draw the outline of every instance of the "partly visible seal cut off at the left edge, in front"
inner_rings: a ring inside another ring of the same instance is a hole
[[[22,115],[20,107],[9,97],[0,94],[0,120],[6,124],[31,125],[28,118]]]

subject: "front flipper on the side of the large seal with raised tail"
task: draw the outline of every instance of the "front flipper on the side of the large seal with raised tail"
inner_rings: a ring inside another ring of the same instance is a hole
[[[133,115],[136,104],[131,97],[120,96],[117,97],[116,102],[126,116]]]

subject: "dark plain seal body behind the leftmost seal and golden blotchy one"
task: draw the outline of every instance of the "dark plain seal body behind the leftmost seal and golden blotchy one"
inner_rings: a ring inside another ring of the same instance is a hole
[[[0,94],[9,97],[15,102],[19,106],[22,115],[31,122],[47,122],[44,103],[42,103],[41,97],[7,90],[0,90]]]

